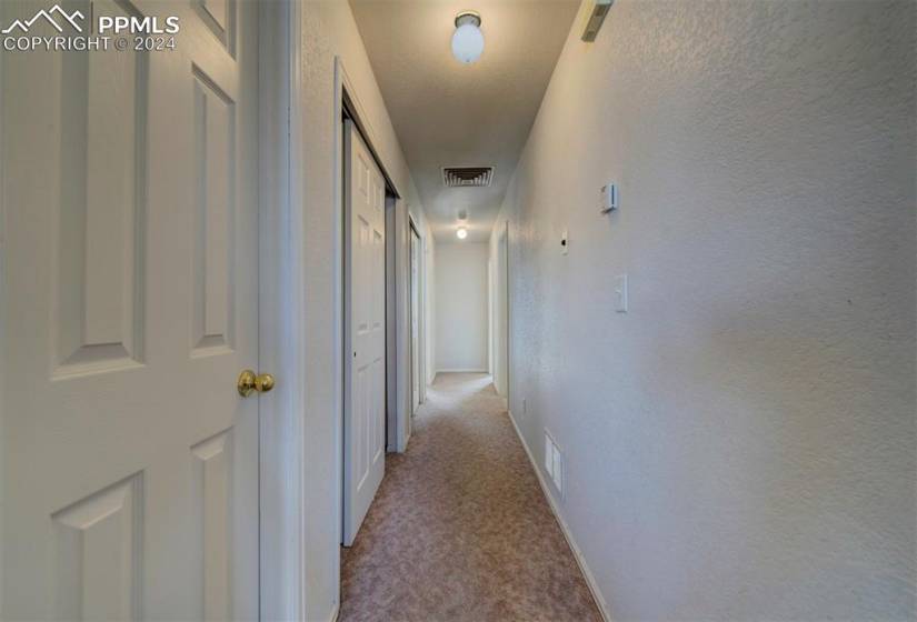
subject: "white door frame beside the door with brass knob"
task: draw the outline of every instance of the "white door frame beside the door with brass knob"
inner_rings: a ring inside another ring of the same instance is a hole
[[[259,3],[259,363],[277,378],[260,399],[260,614],[301,620],[305,604],[306,353],[300,179],[300,4]]]

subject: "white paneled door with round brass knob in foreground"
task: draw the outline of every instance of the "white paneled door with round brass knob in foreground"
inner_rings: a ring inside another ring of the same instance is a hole
[[[257,7],[61,6],[180,32],[2,52],[0,618],[255,619]]]

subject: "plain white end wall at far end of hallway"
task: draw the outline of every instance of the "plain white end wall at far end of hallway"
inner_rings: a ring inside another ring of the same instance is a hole
[[[487,252],[484,242],[436,245],[438,371],[487,370]]]

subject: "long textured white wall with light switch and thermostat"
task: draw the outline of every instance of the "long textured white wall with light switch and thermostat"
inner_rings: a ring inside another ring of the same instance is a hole
[[[917,615],[915,7],[570,33],[498,219],[510,395],[615,620]]]

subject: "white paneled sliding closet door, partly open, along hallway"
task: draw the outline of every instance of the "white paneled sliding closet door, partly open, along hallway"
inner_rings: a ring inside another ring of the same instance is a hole
[[[345,123],[343,533],[353,543],[386,470],[386,184]]]

